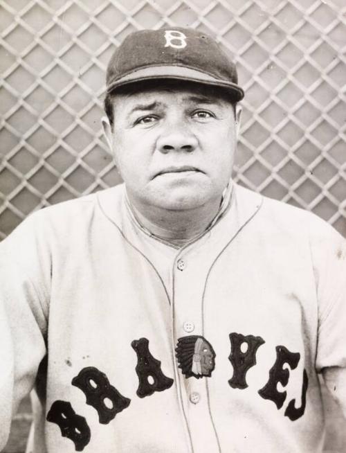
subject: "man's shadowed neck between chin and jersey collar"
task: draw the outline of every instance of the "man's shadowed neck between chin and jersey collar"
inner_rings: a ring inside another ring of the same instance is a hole
[[[221,199],[181,211],[146,206],[144,212],[144,209],[136,206],[130,198],[129,204],[138,223],[149,233],[166,242],[172,242],[172,245],[183,245],[206,231],[219,212]]]

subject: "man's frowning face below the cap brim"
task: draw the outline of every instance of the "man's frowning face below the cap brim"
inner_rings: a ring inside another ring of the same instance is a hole
[[[185,210],[219,202],[230,179],[233,105],[210,87],[179,85],[115,96],[109,141],[137,207]]]

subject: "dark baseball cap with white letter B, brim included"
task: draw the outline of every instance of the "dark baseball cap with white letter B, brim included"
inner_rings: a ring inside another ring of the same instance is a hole
[[[192,28],[140,30],[127,35],[109,60],[107,93],[154,79],[224,87],[233,100],[244,98],[232,57],[215,39]]]

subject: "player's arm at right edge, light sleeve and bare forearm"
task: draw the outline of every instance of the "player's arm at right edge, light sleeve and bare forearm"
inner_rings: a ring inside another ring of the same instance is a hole
[[[346,240],[320,220],[311,236],[319,321],[316,369],[346,417]]]

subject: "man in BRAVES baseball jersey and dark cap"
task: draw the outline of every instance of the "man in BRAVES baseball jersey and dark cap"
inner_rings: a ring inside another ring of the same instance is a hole
[[[35,385],[35,453],[322,452],[318,373],[346,413],[345,241],[230,180],[243,96],[200,31],[114,53],[103,125],[125,185],[1,247],[1,445]]]

